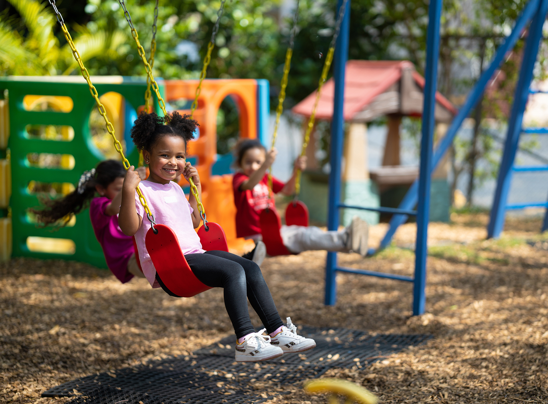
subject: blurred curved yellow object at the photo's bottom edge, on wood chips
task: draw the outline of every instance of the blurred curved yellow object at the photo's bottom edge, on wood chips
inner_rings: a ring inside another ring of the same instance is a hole
[[[339,396],[345,397],[345,404],[376,404],[379,399],[369,390],[343,379],[318,379],[305,384],[307,393],[331,393],[329,404],[339,403]]]

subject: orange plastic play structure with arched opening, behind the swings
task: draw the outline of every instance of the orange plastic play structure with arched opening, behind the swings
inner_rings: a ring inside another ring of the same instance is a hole
[[[198,80],[166,80],[165,100],[194,99]],[[198,121],[199,138],[189,143],[188,156],[197,159],[196,168],[202,183],[202,203],[207,220],[219,223],[226,233],[232,250],[253,248],[251,240],[236,237],[236,206],[232,192],[232,174],[212,175],[212,166],[217,154],[217,112],[222,100],[231,96],[239,112],[239,136],[254,139],[258,132],[257,81],[247,79],[204,80],[198,98],[194,119]],[[190,114],[190,109],[179,110]],[[184,178],[179,184],[187,186]]]

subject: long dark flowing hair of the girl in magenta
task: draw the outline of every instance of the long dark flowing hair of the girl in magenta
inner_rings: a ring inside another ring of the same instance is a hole
[[[95,197],[95,186],[108,187],[116,178],[124,177],[125,169],[120,161],[101,161],[95,169],[85,171],[78,181],[76,189],[61,199],[41,198],[44,207],[29,209],[36,215],[38,223],[43,226],[55,223],[64,227],[76,215],[88,207],[89,201]],[[62,219],[62,221],[61,221]],[[61,221],[61,222],[60,222]]]

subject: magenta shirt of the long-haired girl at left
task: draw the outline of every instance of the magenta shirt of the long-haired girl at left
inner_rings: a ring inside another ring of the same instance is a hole
[[[112,201],[106,197],[94,198],[89,205],[89,217],[93,231],[103,254],[106,265],[120,282],[126,283],[133,275],[128,271],[128,261],[133,254],[133,240],[122,233],[118,226],[118,215],[105,213],[106,206]]]

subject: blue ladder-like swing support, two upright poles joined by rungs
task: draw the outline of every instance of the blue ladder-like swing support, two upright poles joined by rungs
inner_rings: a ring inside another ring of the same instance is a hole
[[[338,9],[342,7],[344,0],[338,1]],[[548,1],[548,0],[547,0]],[[411,210],[414,205],[401,207],[401,209],[389,209],[386,207],[372,208],[361,206],[347,206],[340,204],[340,176],[341,176],[341,158],[343,152],[344,139],[344,82],[345,65],[348,54],[349,26],[350,26],[350,0],[347,0],[346,13],[344,15],[339,37],[337,38],[335,59],[334,59],[334,80],[335,94],[333,105],[333,121],[331,127],[331,153],[329,174],[329,204],[328,204],[328,229],[336,230],[339,227],[339,209],[352,207],[354,209],[365,209],[379,212],[389,212],[395,216],[404,216],[415,214]],[[423,109],[423,136],[421,139],[420,152],[420,175],[419,175],[419,204],[417,215],[417,238],[416,238],[416,256],[415,256],[415,274],[414,277],[401,276],[390,273],[381,273],[374,271],[355,270],[352,268],[339,267],[337,265],[337,254],[327,253],[326,263],[326,296],[325,304],[334,305],[336,300],[336,272],[357,273],[362,275],[376,276],[380,278],[389,278],[404,280],[414,283],[413,293],[413,315],[424,313],[425,307],[425,285],[426,285],[426,239],[428,232],[428,220],[430,211],[430,179],[432,166],[432,141],[434,130],[434,108],[436,103],[436,80],[437,64],[439,54],[439,19],[441,16],[442,0],[432,0],[429,8],[429,26],[426,46],[426,83],[424,87],[424,109]],[[338,13],[337,13],[338,14]],[[416,190],[415,190],[416,192]]]

